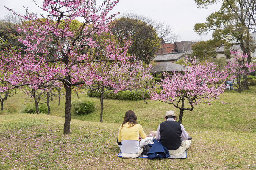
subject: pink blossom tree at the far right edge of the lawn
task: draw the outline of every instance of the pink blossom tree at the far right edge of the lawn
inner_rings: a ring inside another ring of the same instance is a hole
[[[226,69],[230,72],[230,79],[235,78],[237,84],[235,86],[238,88],[238,92],[241,93],[241,88],[245,86],[244,82],[241,84],[241,78],[243,76],[248,76],[250,72],[253,72],[256,67],[256,63],[247,62],[248,54],[242,53],[241,51],[230,51],[230,54],[234,55],[233,63],[229,62]]]

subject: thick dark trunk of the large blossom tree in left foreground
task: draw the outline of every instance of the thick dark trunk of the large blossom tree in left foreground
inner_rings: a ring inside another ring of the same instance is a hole
[[[70,81],[70,76],[66,76],[66,79]],[[71,92],[72,89],[70,86],[65,84],[66,90],[66,106],[65,106],[65,121],[64,121],[64,134],[70,134],[70,121],[71,121]]]

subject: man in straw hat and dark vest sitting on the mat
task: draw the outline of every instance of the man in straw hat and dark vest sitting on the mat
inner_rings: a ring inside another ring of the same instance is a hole
[[[192,137],[188,136],[185,128],[179,122],[176,122],[177,116],[174,111],[166,111],[162,122],[157,128],[156,140],[169,150],[170,155],[181,155],[191,145]]]

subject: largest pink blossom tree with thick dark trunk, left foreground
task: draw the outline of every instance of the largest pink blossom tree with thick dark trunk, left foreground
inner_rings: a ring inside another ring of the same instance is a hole
[[[127,48],[118,48],[115,41],[105,41],[104,45],[97,41],[109,32],[108,25],[115,15],[107,17],[107,14],[117,3],[118,0],[103,0],[101,4],[93,0],[43,0],[43,6],[38,7],[48,12],[47,16],[39,17],[27,10],[22,17],[29,22],[17,28],[25,35],[19,39],[27,46],[25,54],[12,48],[1,53],[1,79],[9,83],[1,86],[1,92],[24,85],[41,89],[62,82],[66,97],[63,131],[69,134],[72,88],[81,84],[90,86],[94,79],[104,79],[95,71],[100,66],[98,62],[118,62],[122,68],[131,59]],[[75,18],[82,20],[81,25],[71,30]],[[109,86],[121,89],[112,81],[105,79]]]

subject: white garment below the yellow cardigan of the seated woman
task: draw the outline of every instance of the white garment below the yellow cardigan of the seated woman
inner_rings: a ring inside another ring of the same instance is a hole
[[[122,153],[137,153],[141,150],[138,140],[122,140],[122,145],[118,145]]]

